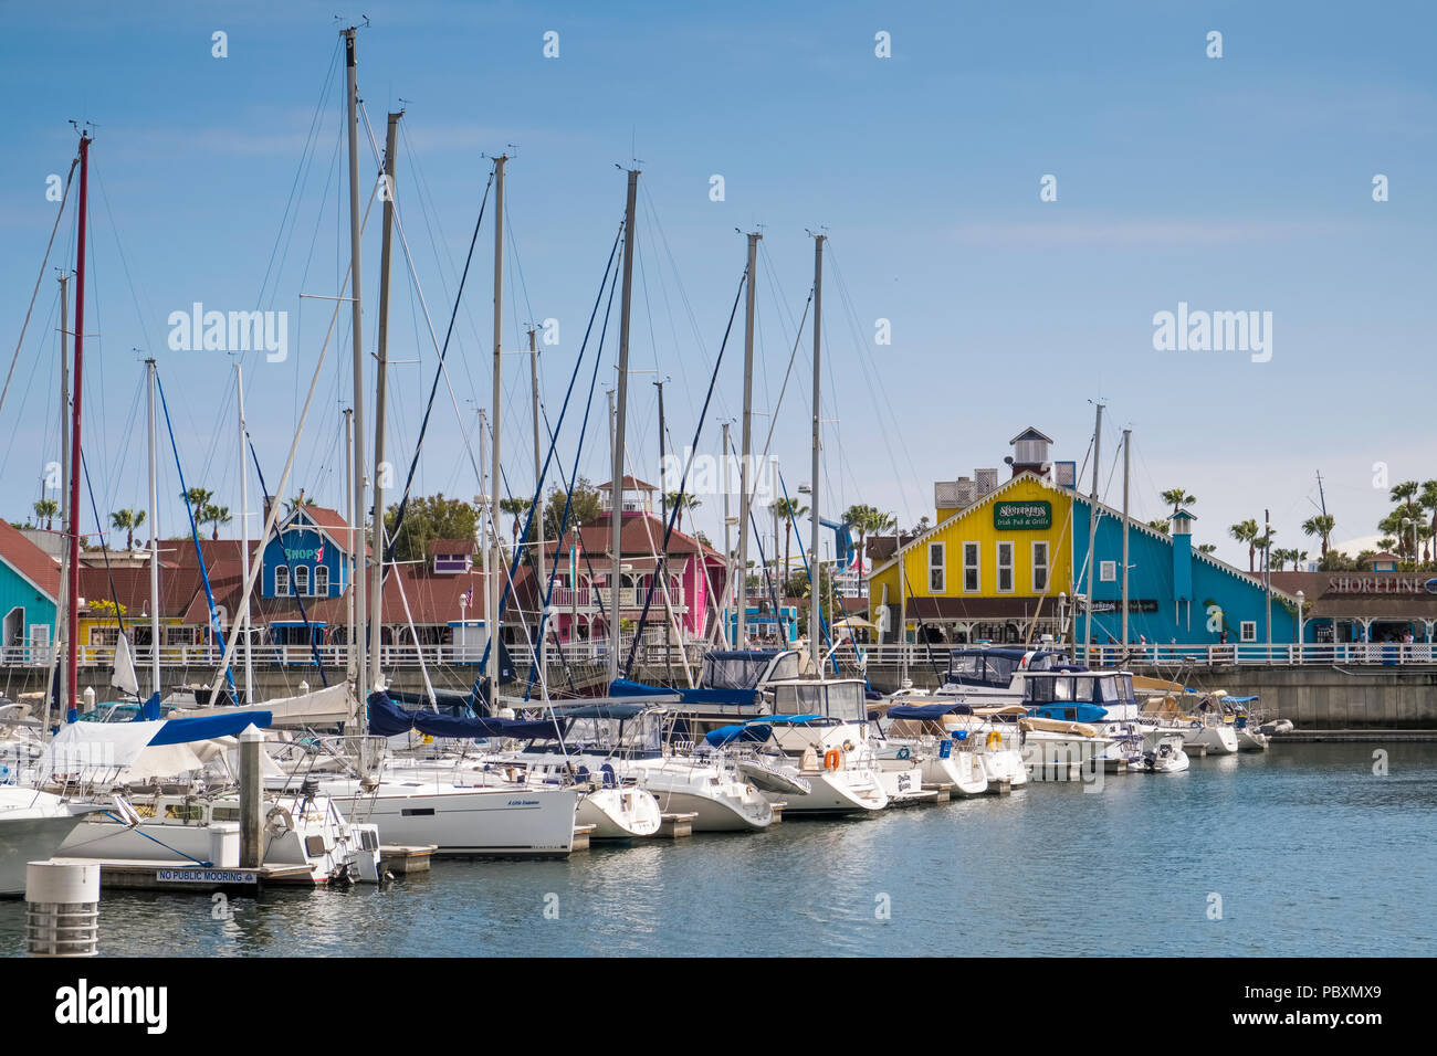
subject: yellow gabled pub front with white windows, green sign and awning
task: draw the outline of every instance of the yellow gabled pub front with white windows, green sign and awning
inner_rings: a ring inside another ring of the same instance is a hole
[[[1073,493],[1050,476],[1025,466],[971,504],[940,509],[933,529],[877,565],[868,603],[882,641],[1058,636],[1059,595],[1065,601],[1072,582]]]

